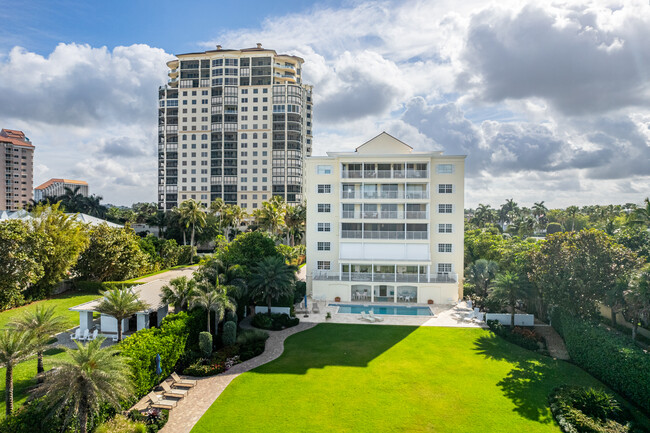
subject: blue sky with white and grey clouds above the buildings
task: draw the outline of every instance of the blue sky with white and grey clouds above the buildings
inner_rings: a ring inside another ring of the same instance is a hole
[[[0,127],[34,182],[156,199],[157,89],[173,54],[305,59],[314,154],[386,131],[466,159],[466,207],[650,196],[650,3],[0,0]]]

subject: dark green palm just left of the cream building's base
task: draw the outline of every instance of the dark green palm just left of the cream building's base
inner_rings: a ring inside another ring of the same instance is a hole
[[[248,282],[251,295],[266,300],[269,314],[274,300],[293,293],[297,269],[297,266],[286,264],[279,256],[265,257],[254,268]]]

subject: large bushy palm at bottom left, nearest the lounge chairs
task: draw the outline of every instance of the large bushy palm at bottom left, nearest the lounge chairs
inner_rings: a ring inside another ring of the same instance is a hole
[[[66,349],[69,359],[59,361],[35,391],[52,412],[69,411],[66,421],[77,416],[81,433],[87,432],[90,414],[104,405],[119,409],[133,392],[128,364],[116,356],[115,346],[102,349],[103,341],[75,342],[76,349]]]

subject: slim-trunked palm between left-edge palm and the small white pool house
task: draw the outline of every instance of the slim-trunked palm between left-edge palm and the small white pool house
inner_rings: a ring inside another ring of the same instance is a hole
[[[22,317],[9,324],[20,331],[31,331],[34,335],[34,346],[37,355],[36,373],[41,381],[43,368],[43,350],[47,347],[50,338],[59,332],[65,331],[66,321],[63,316],[58,316],[54,307],[37,305],[33,310],[26,310]]]

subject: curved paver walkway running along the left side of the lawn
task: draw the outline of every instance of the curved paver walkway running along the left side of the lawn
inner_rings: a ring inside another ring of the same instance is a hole
[[[178,402],[174,409],[169,411],[169,421],[160,430],[161,433],[189,433],[234,378],[278,358],[284,352],[284,340],[287,337],[314,326],[315,323],[301,322],[293,328],[282,331],[267,331],[269,339],[266,340],[266,347],[261,355],[237,364],[219,375],[196,378],[196,386]]]

